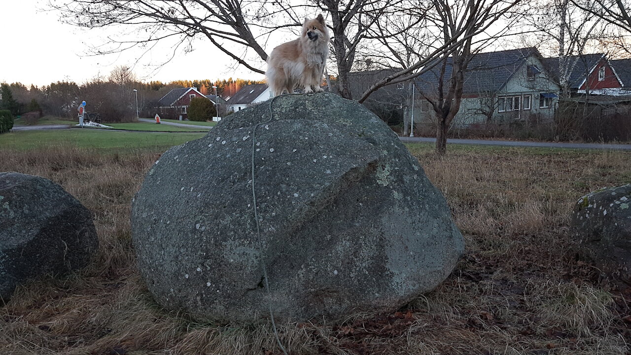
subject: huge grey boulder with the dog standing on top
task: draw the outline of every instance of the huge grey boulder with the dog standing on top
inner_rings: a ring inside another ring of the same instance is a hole
[[[464,249],[392,130],[327,93],[277,97],[171,148],[131,222],[151,294],[202,322],[255,322],[268,302],[281,320],[394,310],[442,282]]]

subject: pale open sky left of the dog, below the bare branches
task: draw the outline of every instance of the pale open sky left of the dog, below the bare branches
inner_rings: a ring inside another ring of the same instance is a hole
[[[153,49],[133,49],[122,54],[90,56],[90,45],[107,41],[110,30],[78,28],[61,23],[59,13],[45,11],[48,0],[0,0],[0,82],[30,86],[70,80],[83,83],[98,76],[107,78],[115,66],[133,67],[141,81],[244,78],[262,79],[248,69],[233,68],[233,62],[203,40],[192,52],[179,49],[170,58],[172,44]]]

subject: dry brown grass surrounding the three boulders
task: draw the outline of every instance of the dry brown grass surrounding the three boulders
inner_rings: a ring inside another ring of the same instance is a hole
[[[625,294],[574,259],[579,196],[631,181],[631,154],[412,145],[467,251],[433,292],[387,315],[281,325],[292,354],[625,354]],[[218,327],[166,313],[134,267],[129,205],[155,152],[4,152],[0,171],[62,184],[95,214],[100,251],[63,279],[19,287],[0,308],[0,354],[279,354],[269,325]]]

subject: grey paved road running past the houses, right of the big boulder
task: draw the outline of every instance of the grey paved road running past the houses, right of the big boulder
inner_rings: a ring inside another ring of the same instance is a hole
[[[436,138],[425,137],[399,137],[404,142],[430,142],[435,143]],[[611,149],[631,150],[631,144],[601,144],[601,143],[552,143],[548,141],[504,141],[504,140],[464,140],[448,139],[449,144],[475,144],[475,145],[502,145],[505,147],[540,147],[540,148],[566,148],[566,149]]]

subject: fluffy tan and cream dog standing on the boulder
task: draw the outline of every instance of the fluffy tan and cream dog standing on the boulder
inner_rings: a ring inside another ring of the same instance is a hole
[[[324,18],[318,15],[311,20],[305,18],[300,38],[274,48],[265,73],[274,96],[285,90],[293,93],[296,84],[304,87],[304,93],[324,91],[320,83],[329,56],[329,39]]]

